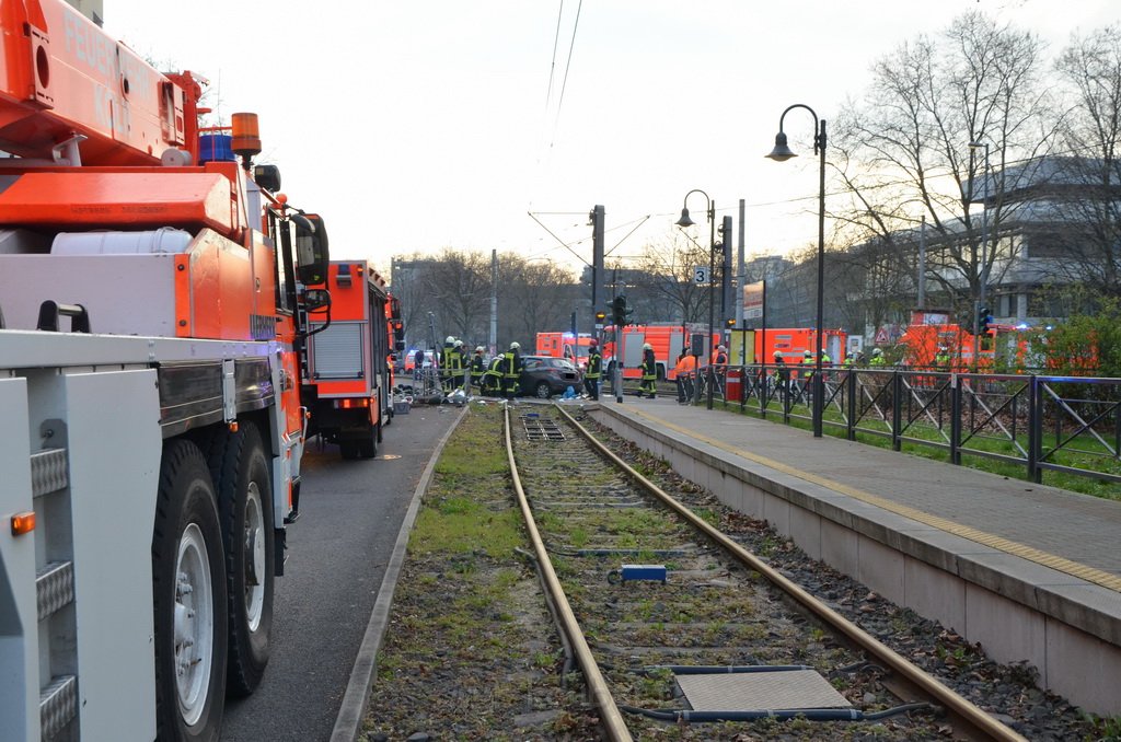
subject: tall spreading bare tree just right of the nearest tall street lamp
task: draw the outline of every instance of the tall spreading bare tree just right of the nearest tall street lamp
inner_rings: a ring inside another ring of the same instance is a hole
[[[999,277],[1017,249],[993,239],[1001,233],[1004,194],[1017,187],[1007,182],[1006,165],[1046,151],[1053,139],[1040,55],[1032,34],[971,11],[938,37],[920,36],[879,59],[865,99],[835,127],[833,165],[851,195],[836,216],[850,239],[878,239],[914,263],[914,247],[898,244],[900,230],[916,234],[925,215],[929,278],[947,296],[976,297],[983,276]],[[985,234],[992,250],[982,249],[981,220],[971,210],[982,201],[986,177],[971,142],[990,146]],[[1029,168],[1015,173],[1032,175]]]

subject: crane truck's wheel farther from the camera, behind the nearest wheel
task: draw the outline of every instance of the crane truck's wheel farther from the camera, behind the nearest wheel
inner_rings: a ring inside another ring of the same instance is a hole
[[[269,662],[272,631],[272,479],[253,424],[214,437],[210,469],[217,489],[229,604],[231,694],[248,696]]]

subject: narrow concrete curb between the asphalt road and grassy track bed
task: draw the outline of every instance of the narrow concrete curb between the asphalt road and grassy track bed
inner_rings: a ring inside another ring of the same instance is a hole
[[[346,693],[343,694],[343,703],[339,708],[339,716],[335,717],[335,727],[331,732],[331,742],[355,742],[362,720],[365,717],[367,701],[370,697],[370,689],[373,686],[374,670],[378,664],[378,650],[381,648],[381,640],[386,636],[386,627],[389,624],[389,611],[393,604],[393,593],[397,591],[397,581],[401,575],[401,566],[405,564],[405,551],[409,545],[409,534],[413,531],[413,523],[420,511],[420,501],[428,482],[432,481],[433,472],[436,470],[436,462],[439,460],[444,446],[452,434],[460,427],[470,406],[465,406],[460,416],[448,427],[447,433],[436,444],[436,449],[428,460],[420,481],[413,492],[413,500],[409,509],[405,512],[401,521],[401,529],[397,534],[397,542],[393,545],[393,554],[389,558],[389,566],[381,578],[381,586],[378,588],[378,600],[373,604],[370,613],[370,622],[365,627],[365,634],[362,637],[362,644],[359,647],[354,658],[354,668],[351,670],[350,681],[346,684]]]

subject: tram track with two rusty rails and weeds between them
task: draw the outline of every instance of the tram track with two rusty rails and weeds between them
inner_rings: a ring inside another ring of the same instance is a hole
[[[667,722],[733,739],[757,720],[825,725],[817,739],[853,723],[878,739],[1025,739],[714,527],[698,488],[666,492],[560,407],[537,409],[507,411],[507,456],[608,739]]]

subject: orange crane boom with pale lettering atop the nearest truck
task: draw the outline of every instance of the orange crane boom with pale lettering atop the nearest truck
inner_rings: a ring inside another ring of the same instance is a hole
[[[0,149],[76,165],[156,165],[196,145],[202,89],[164,75],[63,0],[0,2]]]

